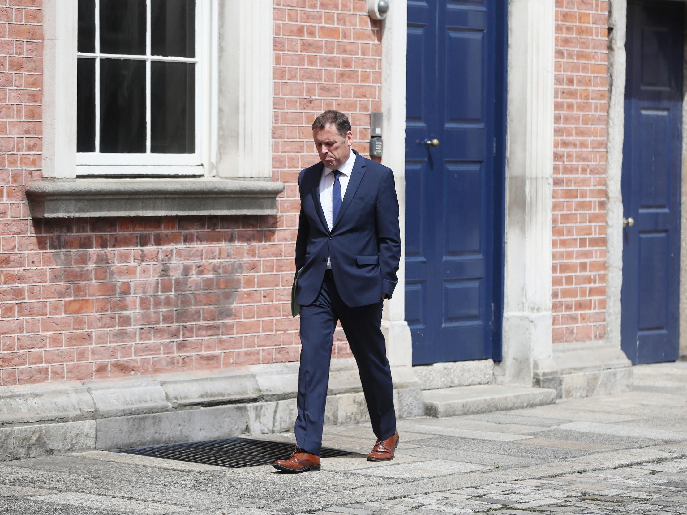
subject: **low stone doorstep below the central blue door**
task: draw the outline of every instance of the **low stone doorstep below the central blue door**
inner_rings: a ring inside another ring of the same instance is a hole
[[[508,385],[474,385],[423,391],[425,415],[453,417],[553,404],[556,391]]]

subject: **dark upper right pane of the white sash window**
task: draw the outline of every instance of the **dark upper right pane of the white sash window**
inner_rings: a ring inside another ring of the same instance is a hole
[[[196,1],[151,0],[150,53],[195,57]]]

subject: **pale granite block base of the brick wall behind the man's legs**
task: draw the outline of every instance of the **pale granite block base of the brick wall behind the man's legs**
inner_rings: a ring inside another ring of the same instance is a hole
[[[218,374],[23,385],[0,396],[0,459],[293,431],[297,363]],[[326,424],[369,420],[352,359],[335,360]],[[423,414],[420,385],[394,373],[398,417]]]

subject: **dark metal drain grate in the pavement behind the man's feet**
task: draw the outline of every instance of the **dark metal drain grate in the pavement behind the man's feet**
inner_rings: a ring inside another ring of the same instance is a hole
[[[293,444],[271,442],[252,438],[223,438],[185,442],[184,444],[154,445],[132,449],[115,450],[115,453],[137,454],[156,458],[192,461],[207,465],[227,468],[257,467],[269,465],[275,459],[287,459],[291,456]],[[322,448],[321,457],[350,456],[347,450]]]

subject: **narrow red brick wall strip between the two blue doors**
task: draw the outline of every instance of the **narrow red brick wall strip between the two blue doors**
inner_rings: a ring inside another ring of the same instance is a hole
[[[556,0],[553,339],[605,336],[607,13]]]

